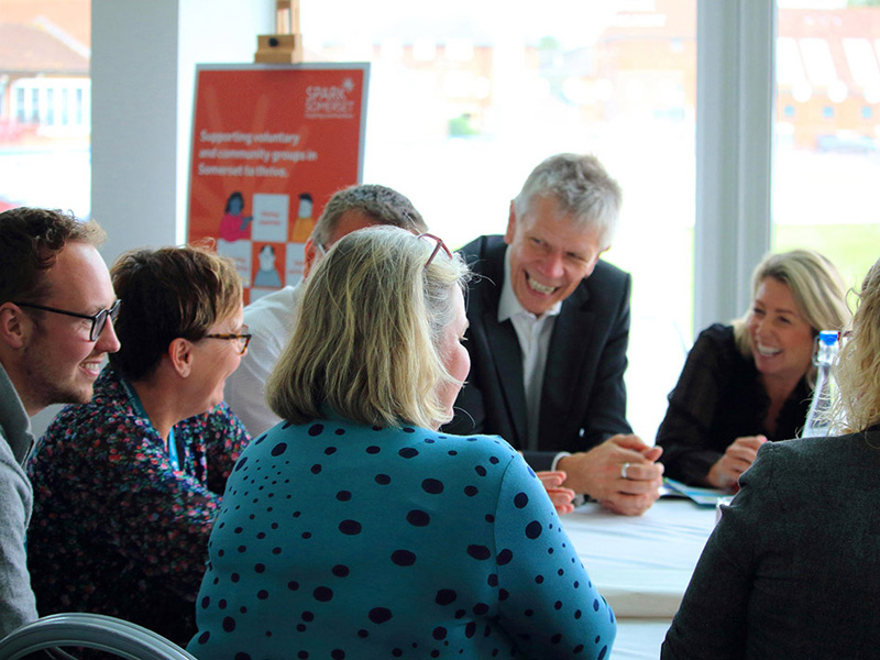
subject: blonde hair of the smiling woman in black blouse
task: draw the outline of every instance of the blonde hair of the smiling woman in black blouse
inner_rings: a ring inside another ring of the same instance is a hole
[[[766,256],[751,275],[752,298],[768,277],[789,287],[814,337],[820,330],[843,330],[849,320],[846,285],[834,264],[818,252],[791,250]],[[751,339],[747,330],[751,314],[749,309],[743,318],[734,321],[736,345],[746,358],[751,358]]]

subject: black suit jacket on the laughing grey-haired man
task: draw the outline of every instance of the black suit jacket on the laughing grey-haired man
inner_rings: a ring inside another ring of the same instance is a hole
[[[475,276],[468,295],[465,343],[471,373],[444,430],[496,433],[526,448],[522,354],[513,323],[498,322],[504,282],[503,237],[480,237],[461,249]],[[536,470],[548,470],[560,451],[584,451],[615,433],[626,420],[626,348],[629,339],[630,276],[600,261],[593,274],[562,302],[547,356],[539,452],[526,452]]]

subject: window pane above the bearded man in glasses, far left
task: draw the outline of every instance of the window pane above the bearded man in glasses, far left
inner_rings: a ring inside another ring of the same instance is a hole
[[[0,210],[90,212],[90,0],[3,3]]]

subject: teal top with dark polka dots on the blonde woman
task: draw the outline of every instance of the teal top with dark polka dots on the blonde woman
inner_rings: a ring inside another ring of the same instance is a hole
[[[606,658],[614,613],[499,438],[279,424],[227,485],[200,660]]]

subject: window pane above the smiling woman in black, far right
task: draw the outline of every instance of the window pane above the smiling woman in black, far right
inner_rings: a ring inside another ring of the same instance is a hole
[[[849,285],[880,255],[880,7],[855,4],[779,1],[773,173],[774,250],[814,248]]]

